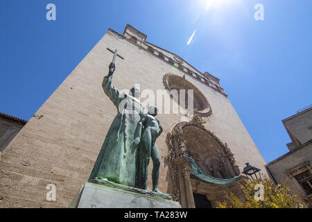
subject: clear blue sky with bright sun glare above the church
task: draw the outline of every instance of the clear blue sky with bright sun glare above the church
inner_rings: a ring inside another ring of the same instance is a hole
[[[1,0],[0,112],[30,119],[107,28],[131,24],[220,78],[270,162],[291,141],[281,120],[312,103],[312,1],[222,1],[205,10],[207,0]],[[48,3],[56,21],[46,20]],[[254,20],[256,3],[264,21]]]

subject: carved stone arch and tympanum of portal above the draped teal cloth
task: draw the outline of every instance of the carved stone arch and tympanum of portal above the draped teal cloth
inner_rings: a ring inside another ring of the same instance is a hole
[[[191,121],[177,123],[167,134],[168,153],[165,160],[171,173],[173,200],[180,201],[180,196],[184,195],[180,194],[178,172],[187,177],[191,170],[189,162],[179,158],[181,156],[193,158],[202,171],[216,178],[233,178],[240,174],[229,146],[207,130],[204,123],[201,117],[194,114]],[[213,146],[209,147],[209,144]]]

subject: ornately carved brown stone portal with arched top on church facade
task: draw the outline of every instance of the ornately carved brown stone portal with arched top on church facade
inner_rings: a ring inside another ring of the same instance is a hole
[[[195,207],[193,192],[207,196],[212,207],[216,207],[217,201],[225,200],[230,192],[243,196],[240,188],[245,181],[243,176],[228,185],[215,185],[192,178],[191,162],[185,159],[193,159],[201,171],[214,178],[228,179],[240,175],[227,144],[223,144],[202,123],[205,121],[194,115],[191,121],[177,123],[166,137],[168,154],[165,160],[171,176],[169,190],[173,200],[179,201],[182,207]]]

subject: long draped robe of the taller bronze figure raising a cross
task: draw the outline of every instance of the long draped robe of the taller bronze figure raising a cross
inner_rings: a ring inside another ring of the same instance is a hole
[[[112,76],[105,76],[102,86],[118,114],[108,130],[89,180],[101,177],[135,187],[137,151],[131,149],[131,145],[144,108],[139,100],[112,86]]]

